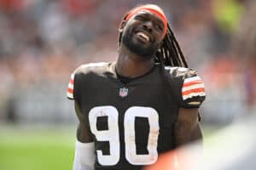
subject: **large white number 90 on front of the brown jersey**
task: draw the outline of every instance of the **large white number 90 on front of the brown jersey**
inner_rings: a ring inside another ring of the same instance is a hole
[[[97,117],[108,116],[108,130],[97,130]],[[148,118],[148,154],[137,155],[135,142],[136,117]],[[157,160],[157,139],[159,135],[158,113],[151,107],[133,106],[125,111],[125,158],[133,165],[148,165]],[[102,165],[111,166],[119,162],[119,112],[113,106],[94,107],[89,112],[90,130],[95,134],[98,141],[108,141],[110,154],[102,155],[102,150],[96,150],[98,161]]]

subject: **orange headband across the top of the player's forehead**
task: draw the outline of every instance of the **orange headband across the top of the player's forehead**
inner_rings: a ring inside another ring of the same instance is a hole
[[[154,4],[147,4],[147,5],[143,5],[143,6],[131,9],[131,11],[128,12],[125,20],[127,20],[127,21],[130,20],[134,14],[137,14],[138,12],[141,12],[143,10],[148,10],[150,13],[155,14],[156,16],[158,16],[160,18],[160,20],[163,21],[164,26],[165,26],[164,27],[164,35],[166,35],[166,31],[167,31],[166,14],[164,14],[163,10],[160,7],[158,7]]]

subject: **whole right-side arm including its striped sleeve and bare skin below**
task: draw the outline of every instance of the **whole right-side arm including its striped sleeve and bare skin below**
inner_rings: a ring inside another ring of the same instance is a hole
[[[181,81],[174,87],[180,108],[174,125],[175,144],[178,147],[191,141],[202,141],[198,108],[206,99],[204,82],[194,69],[173,68],[170,74]]]

